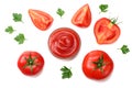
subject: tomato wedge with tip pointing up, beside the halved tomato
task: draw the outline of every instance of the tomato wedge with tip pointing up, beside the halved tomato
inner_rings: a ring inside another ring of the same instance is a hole
[[[90,25],[91,11],[88,3],[77,10],[77,12],[74,14],[72,19],[72,23],[79,28],[87,28]]]

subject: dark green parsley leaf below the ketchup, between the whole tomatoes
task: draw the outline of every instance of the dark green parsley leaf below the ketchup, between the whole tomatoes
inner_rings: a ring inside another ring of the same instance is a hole
[[[70,78],[73,76],[73,73],[69,68],[67,68],[66,66],[63,66],[61,68],[61,70],[63,72],[62,73],[62,78],[65,79],[65,78]]]

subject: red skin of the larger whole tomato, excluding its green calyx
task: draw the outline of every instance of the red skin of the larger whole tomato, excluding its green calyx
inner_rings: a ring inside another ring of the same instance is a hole
[[[103,73],[99,68],[95,69],[96,65],[94,64],[94,62],[97,62],[99,56],[101,55],[103,55],[103,62],[106,63],[106,65],[102,67]],[[82,72],[86,75],[86,77],[90,79],[105,79],[112,73],[112,70],[113,61],[103,51],[91,51],[85,56],[82,61]]]

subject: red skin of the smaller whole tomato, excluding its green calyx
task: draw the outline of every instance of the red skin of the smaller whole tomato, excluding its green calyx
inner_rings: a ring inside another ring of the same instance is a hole
[[[36,59],[34,61],[34,63],[36,65],[32,66],[32,69],[33,69],[32,72],[31,72],[31,66],[24,67],[28,64],[25,58],[29,58],[30,55],[31,55],[31,57],[36,57]],[[26,51],[21,54],[21,56],[19,57],[19,61],[18,61],[19,69],[24,75],[29,75],[29,76],[38,74],[42,70],[43,66],[44,66],[44,58],[37,52]]]

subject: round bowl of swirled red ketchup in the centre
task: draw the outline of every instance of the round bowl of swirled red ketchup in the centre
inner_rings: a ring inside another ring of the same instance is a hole
[[[48,47],[56,57],[72,58],[79,51],[80,37],[69,28],[59,28],[50,35]]]

